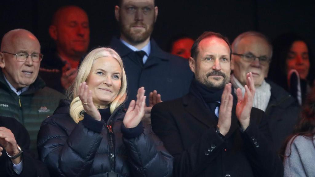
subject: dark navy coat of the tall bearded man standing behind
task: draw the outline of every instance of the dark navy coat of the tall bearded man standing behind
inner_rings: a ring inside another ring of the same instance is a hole
[[[135,53],[119,38],[113,37],[110,47],[123,59],[128,89],[126,105],[129,105],[131,100],[136,100],[137,90],[142,86],[146,89],[147,97],[150,92],[157,90],[163,101],[173,100],[188,93],[192,80],[188,60],[164,52],[153,39],[151,53],[143,68],[135,58]],[[148,101],[149,99],[146,100],[147,104]]]

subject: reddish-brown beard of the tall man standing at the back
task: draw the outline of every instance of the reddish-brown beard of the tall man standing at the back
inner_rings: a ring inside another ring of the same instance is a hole
[[[134,25],[134,24],[132,24],[132,25]],[[123,26],[122,24],[120,24],[120,29],[121,29],[121,33],[123,34],[123,36],[126,37],[127,40],[133,44],[142,43],[146,39],[148,39],[151,36],[153,28],[154,28],[154,22],[153,22],[151,25],[148,26],[146,31],[144,31],[142,34],[139,34],[139,33],[132,33],[131,32],[131,26],[132,25]]]

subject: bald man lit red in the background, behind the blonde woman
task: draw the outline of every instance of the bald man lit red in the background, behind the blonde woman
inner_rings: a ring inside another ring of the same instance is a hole
[[[39,76],[47,86],[64,93],[77,76],[79,61],[89,47],[88,15],[77,6],[59,8],[49,26],[49,35],[56,43],[56,51],[45,53]]]

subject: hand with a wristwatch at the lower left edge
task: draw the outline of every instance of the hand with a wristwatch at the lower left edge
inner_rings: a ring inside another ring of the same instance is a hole
[[[2,155],[3,148],[8,152],[10,156],[17,155],[20,151],[16,146],[16,140],[14,134],[10,129],[5,127],[0,127],[0,156]],[[14,164],[21,162],[21,157],[16,159],[11,159]]]

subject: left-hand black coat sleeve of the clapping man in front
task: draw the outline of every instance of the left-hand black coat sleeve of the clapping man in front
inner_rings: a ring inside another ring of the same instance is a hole
[[[196,176],[218,156],[220,147],[224,145],[223,139],[215,132],[215,129],[209,128],[200,140],[184,150],[175,120],[158,104],[152,108],[151,121],[154,132],[174,157],[173,174],[175,177]],[[215,148],[209,152],[211,146]]]

